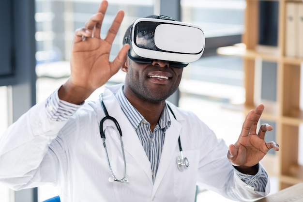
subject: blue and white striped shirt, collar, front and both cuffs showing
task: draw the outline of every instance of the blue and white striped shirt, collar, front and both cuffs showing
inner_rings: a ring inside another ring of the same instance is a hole
[[[121,105],[122,111],[125,113],[129,122],[132,124],[147,157],[151,162],[152,179],[154,181],[160,162],[160,156],[165,139],[165,131],[170,126],[170,118],[165,105],[160,120],[154,131],[150,129],[150,124],[145,118],[130,104],[123,93],[123,87],[116,94],[116,98]],[[52,93],[46,100],[45,109],[48,117],[54,121],[64,121],[70,118],[81,105],[75,105],[58,97],[58,91]],[[247,184],[247,187],[255,191],[264,191],[268,182],[268,175],[259,165],[256,175],[243,174],[234,169],[240,179]]]

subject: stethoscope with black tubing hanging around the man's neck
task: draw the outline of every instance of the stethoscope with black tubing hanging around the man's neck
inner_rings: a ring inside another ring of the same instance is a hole
[[[121,128],[120,128],[120,125],[119,125],[118,121],[114,117],[109,116],[109,114],[107,112],[107,109],[106,109],[106,107],[104,105],[104,102],[103,102],[101,96],[102,96],[102,94],[100,94],[99,99],[100,99],[100,102],[101,102],[102,109],[103,109],[103,111],[105,113],[105,117],[103,117],[103,119],[101,119],[99,128],[100,128],[100,135],[101,135],[101,138],[103,140],[103,146],[104,146],[105,153],[106,153],[108,167],[109,167],[109,170],[110,170],[111,175],[112,175],[112,177],[108,178],[108,181],[109,182],[114,182],[114,181],[116,181],[116,182],[128,182],[128,180],[125,179],[126,178],[126,160],[125,160],[123,140],[122,140],[122,131],[121,131]],[[173,113],[173,111],[169,107],[169,105],[167,105],[167,107],[170,110],[170,112],[172,113],[172,115],[174,116],[174,118],[176,119],[175,114]],[[106,149],[106,143],[105,143],[105,140],[106,140],[106,138],[105,138],[105,132],[103,131],[103,123],[106,120],[111,120],[112,122],[114,122],[114,124],[116,125],[116,127],[118,129],[119,135],[120,135],[121,151],[122,151],[122,156],[123,156],[123,161],[124,161],[124,175],[123,175],[123,177],[121,179],[118,179],[116,177],[116,175],[114,174],[114,172],[113,172],[113,170],[111,168],[110,162],[109,162],[109,157],[108,157],[108,153],[107,153],[107,149]],[[178,139],[178,143],[179,143],[180,156],[177,157],[177,166],[178,166],[178,169],[180,171],[183,171],[184,168],[188,167],[188,159],[186,157],[183,157],[180,136],[179,136],[179,139]]]

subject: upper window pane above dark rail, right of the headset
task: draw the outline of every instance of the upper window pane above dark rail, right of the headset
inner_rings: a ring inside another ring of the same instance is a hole
[[[181,0],[182,21],[195,23],[206,37],[241,34],[244,0]]]

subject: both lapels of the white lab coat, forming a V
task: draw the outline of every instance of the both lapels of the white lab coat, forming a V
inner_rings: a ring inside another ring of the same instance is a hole
[[[123,113],[119,102],[117,101],[115,94],[119,91],[123,84],[114,85],[106,87],[104,94],[102,96],[103,101],[106,105],[106,109],[109,115],[115,117],[120,124],[123,133],[124,150],[129,155],[131,155],[138,165],[145,171],[150,182],[152,183],[152,173],[151,173],[151,163],[142,147],[140,140],[137,137],[136,131],[133,129],[132,125],[129,123],[127,117]],[[176,108],[169,102],[167,102],[172,108],[177,120],[173,117],[170,110],[168,110],[171,125],[166,130],[165,141],[162,149],[162,154],[160,158],[160,164],[157,171],[157,175],[154,181],[153,192],[155,193],[161,181],[163,180],[165,173],[170,164],[176,164],[176,159],[174,153],[179,151],[178,138],[182,129],[182,125],[179,123],[182,121],[182,116]],[[174,110],[175,109],[175,110]],[[113,137],[117,144],[120,145],[120,140],[118,137]],[[126,159],[127,166],[127,159]],[[131,179],[130,179],[131,180]]]

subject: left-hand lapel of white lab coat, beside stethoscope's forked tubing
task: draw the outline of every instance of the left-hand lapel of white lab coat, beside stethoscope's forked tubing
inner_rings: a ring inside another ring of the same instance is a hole
[[[125,153],[131,155],[131,157],[137,162],[137,164],[145,171],[148,178],[150,179],[150,182],[152,183],[151,163],[142,147],[142,144],[136,134],[136,131],[133,129],[133,126],[129,123],[127,117],[123,113],[119,102],[116,100],[115,96],[110,92],[105,92],[103,94],[103,101],[105,103],[108,114],[110,116],[113,116],[120,124]],[[119,137],[113,136],[112,138],[120,147],[121,142]]]

